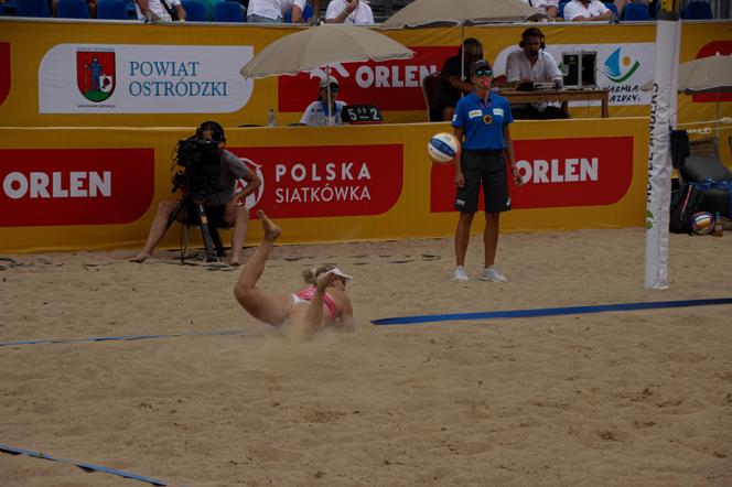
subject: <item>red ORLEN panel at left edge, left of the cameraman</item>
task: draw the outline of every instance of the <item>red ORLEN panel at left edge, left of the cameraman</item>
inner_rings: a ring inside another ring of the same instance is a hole
[[[150,206],[152,149],[0,149],[0,226],[133,221]]]

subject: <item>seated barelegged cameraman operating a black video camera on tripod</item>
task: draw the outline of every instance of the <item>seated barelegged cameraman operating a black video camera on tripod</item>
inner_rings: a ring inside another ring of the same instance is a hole
[[[247,223],[249,220],[249,209],[243,203],[239,203],[239,201],[244,202],[247,196],[254,193],[261,185],[261,181],[239,158],[224,149],[226,138],[224,137],[224,129],[217,122],[203,122],[194,137],[218,143],[218,149],[216,150],[219,165],[217,190],[215,194],[207,195],[205,198],[206,215],[208,224],[212,226],[234,227],[232,230],[232,257],[229,258],[229,264],[238,266],[241,260],[241,247],[247,236]],[[237,180],[247,182],[245,188],[238,193],[236,192]],[[175,183],[177,185],[177,181]],[[183,201],[164,201],[160,203],[158,213],[152,220],[152,225],[150,225],[150,232],[148,234],[144,248],[137,257],[131,259],[132,262],[141,263],[152,257],[153,250],[160,244],[160,240],[162,240],[165,230],[168,230],[168,221],[171,215],[179,209],[179,205],[184,206],[175,217],[176,221],[198,223],[194,207],[190,203],[190,195],[185,195]]]

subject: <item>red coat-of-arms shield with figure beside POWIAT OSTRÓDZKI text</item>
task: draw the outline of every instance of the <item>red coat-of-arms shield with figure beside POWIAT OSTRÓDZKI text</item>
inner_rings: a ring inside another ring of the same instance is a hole
[[[89,101],[104,101],[115,93],[115,52],[77,51],[76,86]]]

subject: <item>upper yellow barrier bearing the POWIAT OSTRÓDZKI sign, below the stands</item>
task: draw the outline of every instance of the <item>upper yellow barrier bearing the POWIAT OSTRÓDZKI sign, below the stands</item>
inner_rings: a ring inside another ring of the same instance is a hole
[[[484,44],[496,75],[518,48],[527,25],[466,28]],[[653,76],[656,29],[620,25],[540,24],[546,52],[558,62],[581,54],[594,82],[611,90],[611,117],[648,116],[650,94],[639,87]],[[0,126],[3,127],[194,127],[202,117],[229,127],[300,120],[317,96],[316,71],[295,77],[245,80],[239,68],[255,54],[300,28],[154,24],[0,19]],[[387,122],[426,121],[420,79],[455,55],[461,29],[413,29],[385,34],[416,52],[413,59],[333,64],[338,97],[377,105]],[[682,24],[679,62],[732,53],[732,23]],[[584,53],[584,54],[583,54]],[[574,117],[593,117],[594,106],[571,105]],[[732,116],[729,95],[722,117]],[[678,121],[715,118],[709,97],[679,96]]]

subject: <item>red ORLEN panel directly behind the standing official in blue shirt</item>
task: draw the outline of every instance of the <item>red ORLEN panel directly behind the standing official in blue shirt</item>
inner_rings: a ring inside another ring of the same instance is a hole
[[[514,150],[524,178],[510,186],[516,209],[612,205],[631,186],[632,137],[514,141]],[[430,212],[454,210],[454,171],[432,164]]]

